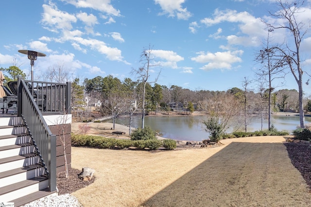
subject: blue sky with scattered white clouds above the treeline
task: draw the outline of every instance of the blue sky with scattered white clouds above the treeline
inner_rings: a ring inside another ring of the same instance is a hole
[[[291,1],[291,0],[290,0]],[[190,90],[242,88],[244,77],[257,90],[256,51],[267,38],[266,26],[280,23],[275,0],[5,0],[0,12],[0,67],[17,65],[30,80],[31,65],[20,49],[46,54],[34,65],[34,79],[62,66],[72,78],[108,76],[124,80],[142,66],[143,49],[152,48],[150,82]],[[309,25],[311,0],[297,19]],[[274,43],[286,39],[275,30]],[[301,43],[302,67],[311,74],[311,31]],[[307,74],[306,73],[306,74]],[[308,77],[304,74],[303,81]],[[276,89],[296,89],[292,74]],[[311,84],[304,84],[311,92]]]

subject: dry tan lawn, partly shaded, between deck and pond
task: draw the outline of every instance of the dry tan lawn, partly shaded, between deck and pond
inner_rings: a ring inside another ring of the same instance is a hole
[[[150,153],[72,147],[72,167],[96,170],[73,192],[84,207],[310,206],[283,137],[224,140],[224,146]]]

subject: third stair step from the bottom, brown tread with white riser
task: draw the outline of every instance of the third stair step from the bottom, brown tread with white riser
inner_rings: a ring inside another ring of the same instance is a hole
[[[0,187],[11,185],[32,177],[44,175],[42,164],[34,164],[0,173]]]

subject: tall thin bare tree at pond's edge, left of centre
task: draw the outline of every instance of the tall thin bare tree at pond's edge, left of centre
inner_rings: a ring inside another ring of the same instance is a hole
[[[141,55],[140,55],[140,63],[143,63],[142,67],[139,67],[138,69],[132,69],[132,74],[136,73],[138,76],[138,79],[143,82],[143,93],[142,93],[142,122],[141,122],[141,128],[144,128],[144,122],[145,122],[145,92],[146,92],[146,84],[148,83],[155,83],[161,73],[158,73],[157,77],[154,81],[150,82],[148,81],[150,78],[150,72],[151,67],[157,66],[156,64],[152,64],[152,47],[149,45],[149,48],[144,48]]]

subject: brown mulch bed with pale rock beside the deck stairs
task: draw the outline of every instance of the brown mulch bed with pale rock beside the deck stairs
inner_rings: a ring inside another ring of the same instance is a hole
[[[65,177],[65,172],[58,173],[56,175],[56,186],[58,188],[58,195],[71,193],[74,191],[78,191],[95,181],[95,177],[93,176],[90,181],[83,181],[78,178],[78,174],[81,173],[81,170],[71,168],[68,171],[69,177]]]

